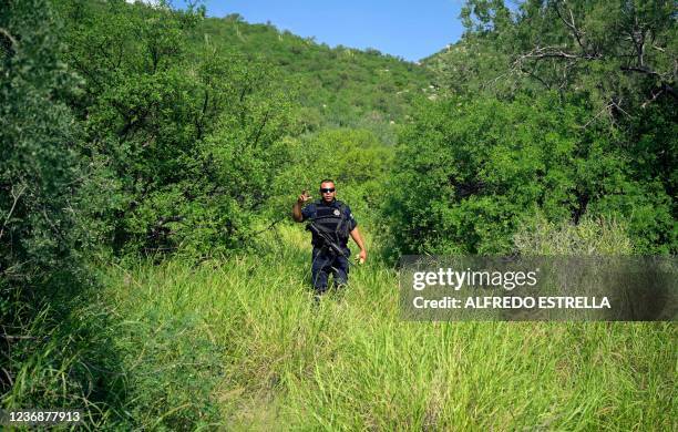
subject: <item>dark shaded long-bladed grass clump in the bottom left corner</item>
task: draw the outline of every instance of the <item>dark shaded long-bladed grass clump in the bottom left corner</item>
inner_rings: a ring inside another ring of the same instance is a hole
[[[4,328],[14,335],[2,352],[7,354],[3,373],[11,373],[11,385],[0,394],[0,405],[4,410],[78,407],[90,428],[125,424],[126,415],[117,411],[124,407],[127,389],[112,344],[116,325],[99,302],[96,290],[52,295],[35,309],[30,320],[23,315],[21,335],[17,328]]]

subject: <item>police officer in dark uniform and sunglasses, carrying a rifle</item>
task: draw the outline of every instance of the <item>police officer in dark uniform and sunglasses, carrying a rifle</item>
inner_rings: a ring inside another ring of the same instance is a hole
[[[360,248],[360,254],[358,255],[360,263],[362,264],[367,259],[367,250],[358,230],[358,223],[353,218],[349,206],[338,200],[336,195],[335,182],[326,178],[320,183],[321,199],[301,208],[304,203],[311,198],[304,191],[292,207],[292,218],[296,222],[310,219],[311,223],[328,234],[346,255],[346,257],[342,257],[333,253],[325,245],[325,240],[321,237],[314,234],[311,239],[314,245],[311,277],[314,288],[318,295],[327,290],[327,280],[330,272],[337,286],[348,282],[349,263],[347,257],[350,255],[350,250],[347,245],[349,235]]]

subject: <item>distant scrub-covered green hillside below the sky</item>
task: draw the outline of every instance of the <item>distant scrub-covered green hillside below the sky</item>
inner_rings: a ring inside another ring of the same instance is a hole
[[[271,24],[247,23],[238,14],[205,19],[194,30],[193,43],[264,58],[278,66],[316,127],[398,123],[415,95],[432,90],[432,73],[415,63],[377,50],[332,49]]]

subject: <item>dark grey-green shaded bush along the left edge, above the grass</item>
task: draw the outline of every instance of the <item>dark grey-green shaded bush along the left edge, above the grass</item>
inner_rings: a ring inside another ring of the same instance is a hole
[[[2,9],[0,284],[30,287],[78,268],[71,200],[79,165],[63,102],[76,81],[59,59],[54,18],[42,2]]]

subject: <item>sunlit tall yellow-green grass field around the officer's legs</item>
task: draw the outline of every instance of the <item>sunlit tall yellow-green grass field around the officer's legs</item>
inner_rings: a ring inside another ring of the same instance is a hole
[[[404,322],[372,259],[315,308],[300,227],[197,266],[102,270],[144,429],[676,430],[672,323]]]

